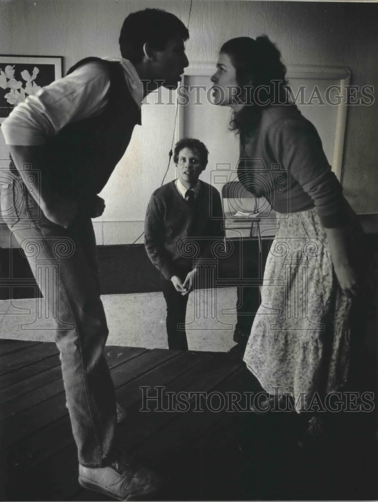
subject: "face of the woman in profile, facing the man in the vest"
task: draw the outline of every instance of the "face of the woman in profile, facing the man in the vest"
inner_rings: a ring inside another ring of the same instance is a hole
[[[236,70],[231,58],[221,52],[217,62],[217,71],[210,79],[213,82],[213,103],[219,106],[233,106],[236,104],[235,96],[238,94],[239,85],[236,81]]]

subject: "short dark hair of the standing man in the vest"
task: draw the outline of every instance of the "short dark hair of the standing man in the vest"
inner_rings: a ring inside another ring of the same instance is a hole
[[[176,37],[187,40],[189,32],[174,14],[161,9],[144,9],[127,16],[119,36],[119,46],[123,58],[139,63],[145,43],[153,49],[163,50],[167,42]]]

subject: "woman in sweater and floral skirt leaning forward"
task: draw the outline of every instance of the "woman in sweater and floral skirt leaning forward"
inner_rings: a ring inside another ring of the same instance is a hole
[[[315,127],[290,101],[280,58],[266,36],[235,38],[222,46],[211,80],[214,104],[233,109],[239,179],[278,216],[244,354],[268,393],[252,410],[294,402],[308,412],[299,440],[306,446],[323,435],[316,411],[346,383],[351,304],[360,290],[352,236],[361,229]]]

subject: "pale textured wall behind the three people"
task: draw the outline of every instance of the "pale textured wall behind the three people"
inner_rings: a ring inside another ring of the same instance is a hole
[[[65,70],[86,56],[118,56],[124,18],[146,7],[165,9],[186,23],[190,2],[0,0],[1,52],[64,56]],[[224,41],[265,33],[286,64],[347,66],[351,84],[377,86],[376,21],[377,6],[367,3],[193,0],[186,53],[190,61],[212,63]],[[99,244],[130,243],[142,232],[145,207],[162,181],[174,132],[175,106],[152,104],[156,99],[142,110],[149,128],[136,128],[103,191],[106,223],[94,220]],[[377,108],[375,100],[348,110],[342,184],[357,213],[378,212]],[[3,142],[0,154],[6,156]],[[165,182],[174,177],[171,163]]]

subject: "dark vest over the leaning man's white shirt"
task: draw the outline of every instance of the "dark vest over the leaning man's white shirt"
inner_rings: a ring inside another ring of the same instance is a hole
[[[46,144],[47,173],[58,193],[79,201],[99,193],[125,153],[135,124],[140,124],[140,108],[130,94],[123,69],[117,62],[86,58],[78,67],[99,62],[110,76],[107,105],[98,115],[68,124]]]

